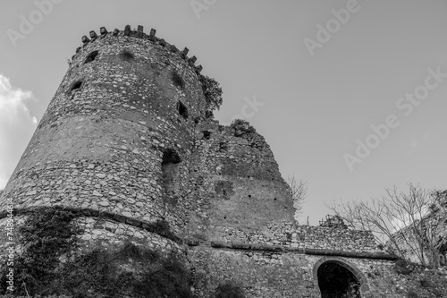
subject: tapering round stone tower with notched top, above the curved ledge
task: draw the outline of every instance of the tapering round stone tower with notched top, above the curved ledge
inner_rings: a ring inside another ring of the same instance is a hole
[[[90,31],[0,201],[61,206],[181,233],[195,125],[205,116],[196,57],[138,30]]]

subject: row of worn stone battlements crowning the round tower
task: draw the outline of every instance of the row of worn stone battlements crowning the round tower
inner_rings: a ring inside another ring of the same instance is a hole
[[[198,75],[200,74],[200,72],[203,69],[202,65],[196,65],[197,57],[195,55],[193,55],[191,57],[188,56],[188,53],[190,52],[190,49],[188,47],[184,47],[183,50],[180,50],[178,47],[175,47],[173,44],[166,42],[166,40],[164,40],[164,38],[157,38],[155,29],[151,29],[149,34],[145,33],[143,30],[143,26],[141,26],[141,25],[138,26],[137,30],[131,30],[131,25],[126,25],[124,30],[115,29],[112,32],[109,32],[108,30],[106,30],[105,27],[101,27],[99,30],[99,35],[97,35],[97,32],[95,30],[91,30],[89,32],[89,37],[84,35],[84,36],[82,36],[82,38],[80,38],[83,46],[78,47],[76,49],[76,53],[79,53],[81,48],[86,47],[87,45],[89,45],[89,43],[92,43],[97,39],[105,38],[108,35],[112,35],[114,37],[125,36],[125,37],[129,37],[129,38],[148,39],[151,42],[155,43],[156,45],[165,47],[170,52],[180,55],[182,59],[184,59],[186,62],[188,62],[188,64],[190,64],[190,67]]]

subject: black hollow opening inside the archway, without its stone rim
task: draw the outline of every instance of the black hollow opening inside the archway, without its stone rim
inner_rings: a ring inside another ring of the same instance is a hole
[[[357,277],[337,262],[320,265],[317,277],[322,298],[361,298]]]

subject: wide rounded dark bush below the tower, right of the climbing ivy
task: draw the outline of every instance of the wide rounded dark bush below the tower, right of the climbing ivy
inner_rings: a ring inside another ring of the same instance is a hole
[[[61,276],[58,294],[74,297],[192,297],[190,275],[181,260],[132,243],[79,256],[63,268]]]

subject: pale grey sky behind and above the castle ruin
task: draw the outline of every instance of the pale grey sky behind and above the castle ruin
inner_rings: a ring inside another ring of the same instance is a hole
[[[2,0],[0,189],[90,30],[144,26],[188,47],[223,88],[221,123],[249,121],[284,178],[325,203],[396,185],[447,189],[445,0]]]

